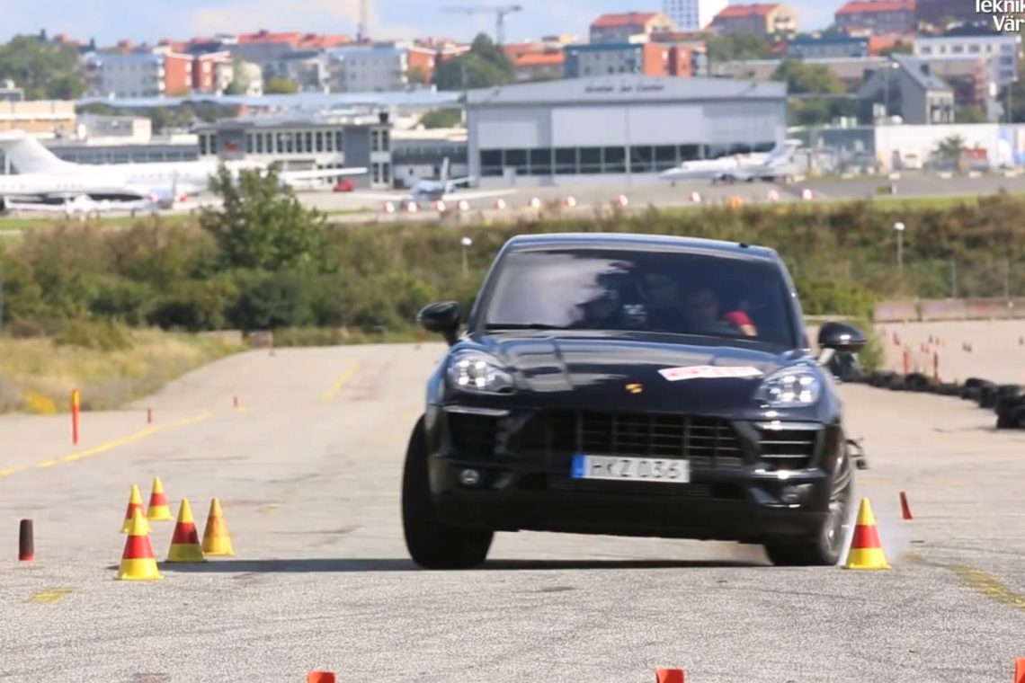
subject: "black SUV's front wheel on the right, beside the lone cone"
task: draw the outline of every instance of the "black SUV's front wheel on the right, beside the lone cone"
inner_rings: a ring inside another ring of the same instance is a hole
[[[822,528],[805,543],[766,544],[766,555],[776,566],[834,566],[844,554],[844,541],[854,508],[854,470],[847,441],[843,442],[829,488],[829,514]]]

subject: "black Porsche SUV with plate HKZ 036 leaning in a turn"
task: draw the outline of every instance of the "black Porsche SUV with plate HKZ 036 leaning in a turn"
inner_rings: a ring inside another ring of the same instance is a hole
[[[830,565],[854,469],[823,364],[865,339],[808,340],[778,254],[711,240],[509,240],[466,330],[453,301],[418,321],[450,349],[406,454],[402,518],[427,568],[482,563],[520,529],[755,543]]]

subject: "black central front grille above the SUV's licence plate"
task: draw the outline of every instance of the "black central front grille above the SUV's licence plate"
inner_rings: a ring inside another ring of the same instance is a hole
[[[740,467],[743,452],[725,420],[645,413],[542,411],[530,418],[510,447],[521,454],[685,459]]]

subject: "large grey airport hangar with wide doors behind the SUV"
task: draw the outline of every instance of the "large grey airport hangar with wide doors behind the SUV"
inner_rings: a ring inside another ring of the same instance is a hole
[[[465,109],[482,186],[625,183],[787,130],[783,82],[615,74],[469,90]]]

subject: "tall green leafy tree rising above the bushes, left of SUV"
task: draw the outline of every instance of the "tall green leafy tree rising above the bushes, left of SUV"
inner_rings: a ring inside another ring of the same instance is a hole
[[[223,206],[204,209],[200,225],[217,244],[229,269],[316,272],[327,269],[324,214],[303,207],[276,170],[243,170],[234,178],[221,165],[210,189]]]

